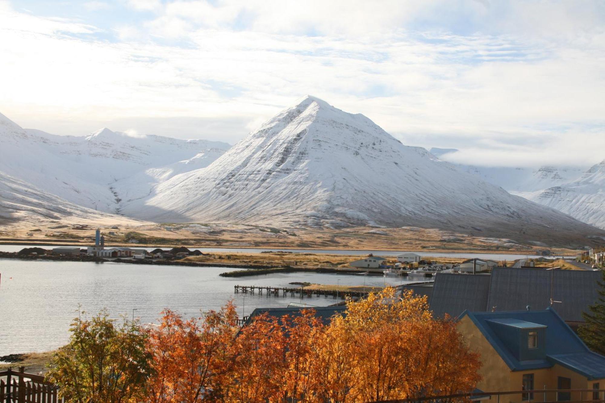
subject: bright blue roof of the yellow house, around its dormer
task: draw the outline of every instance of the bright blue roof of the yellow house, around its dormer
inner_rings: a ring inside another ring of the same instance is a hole
[[[460,318],[465,315],[468,315],[512,371],[548,368],[560,364],[581,373],[588,379],[605,378],[605,357],[591,352],[554,309],[508,312],[465,311]],[[511,345],[511,341],[499,336],[502,333],[494,327],[507,322],[520,324],[521,329],[531,329],[531,325],[535,324],[546,326],[545,356],[540,359],[519,360],[513,351],[515,347]]]

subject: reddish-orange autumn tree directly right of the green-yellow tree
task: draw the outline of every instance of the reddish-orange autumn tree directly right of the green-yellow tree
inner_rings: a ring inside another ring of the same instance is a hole
[[[149,379],[147,401],[213,401],[222,389],[220,376],[231,361],[236,324],[231,302],[186,321],[178,313],[164,310],[159,326],[148,330],[147,350],[154,375]]]

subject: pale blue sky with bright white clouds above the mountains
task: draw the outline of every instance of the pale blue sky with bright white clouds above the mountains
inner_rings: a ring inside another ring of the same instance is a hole
[[[235,143],[304,94],[476,165],[605,158],[605,2],[0,0],[0,113]]]

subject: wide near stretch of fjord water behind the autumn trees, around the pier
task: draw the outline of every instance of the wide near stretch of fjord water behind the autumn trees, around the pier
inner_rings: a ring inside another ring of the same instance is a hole
[[[187,317],[218,309],[234,298],[238,313],[257,307],[285,307],[299,297],[235,294],[234,285],[290,286],[292,281],[320,284],[383,286],[407,280],[382,276],[318,273],[220,277],[224,267],[142,266],[127,263],[0,260],[0,356],[42,352],[63,346],[78,306],[88,317],[106,307],[114,318],[125,314],[155,323],[168,307]],[[295,287],[295,286],[290,286]],[[327,306],[332,297],[304,298]]]

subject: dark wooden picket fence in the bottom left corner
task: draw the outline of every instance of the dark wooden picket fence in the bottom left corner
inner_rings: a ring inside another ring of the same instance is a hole
[[[0,371],[0,403],[64,403],[57,396],[56,385],[44,381],[44,376],[26,373],[24,367],[18,371]]]

